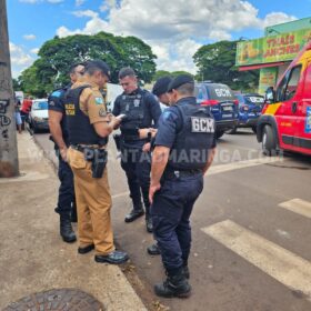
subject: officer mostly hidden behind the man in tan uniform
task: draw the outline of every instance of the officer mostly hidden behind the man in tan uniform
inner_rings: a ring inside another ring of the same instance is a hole
[[[56,212],[60,215],[60,235],[64,242],[74,242],[76,234],[71,227],[71,220],[77,222],[77,207],[74,199],[73,174],[67,162],[67,149],[69,147],[68,129],[64,113],[64,94],[67,90],[83,74],[84,66],[76,63],[70,67],[71,83],[64,88],[54,90],[49,99],[49,127],[54,149],[59,158],[58,175],[60,180],[59,197]]]

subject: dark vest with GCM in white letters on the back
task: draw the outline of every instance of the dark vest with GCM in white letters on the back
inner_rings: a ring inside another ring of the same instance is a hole
[[[214,119],[208,108],[197,104],[177,104],[182,128],[171,148],[168,169],[203,169],[209,149],[214,141]]]

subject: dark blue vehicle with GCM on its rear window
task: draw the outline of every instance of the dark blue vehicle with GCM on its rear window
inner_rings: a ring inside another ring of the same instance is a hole
[[[232,90],[221,83],[195,83],[195,97],[201,106],[209,106],[217,124],[217,138],[238,123],[238,100]]]

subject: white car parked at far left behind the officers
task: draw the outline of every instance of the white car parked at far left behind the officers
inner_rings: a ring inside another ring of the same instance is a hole
[[[48,99],[32,101],[28,122],[34,133],[39,130],[49,130]]]

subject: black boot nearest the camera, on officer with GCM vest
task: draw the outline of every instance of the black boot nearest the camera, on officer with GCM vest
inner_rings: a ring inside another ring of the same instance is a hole
[[[164,298],[188,298],[191,294],[191,287],[183,274],[183,269],[175,274],[169,274],[163,283],[156,284],[154,292]]]

